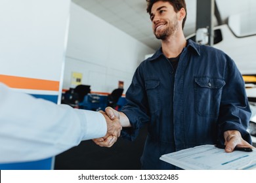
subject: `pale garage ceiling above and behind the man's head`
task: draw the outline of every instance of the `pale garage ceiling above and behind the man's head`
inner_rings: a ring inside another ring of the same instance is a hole
[[[146,0],[72,1],[150,48],[156,50],[160,47],[160,41],[152,33],[151,21],[146,12]],[[216,0],[216,3],[223,22],[232,14],[256,10],[255,0]],[[186,0],[186,6],[188,17],[184,26],[185,36],[196,30],[196,0]]]

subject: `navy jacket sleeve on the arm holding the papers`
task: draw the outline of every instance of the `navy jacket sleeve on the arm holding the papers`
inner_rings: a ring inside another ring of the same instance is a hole
[[[242,138],[251,143],[246,131],[251,110],[245,93],[244,79],[234,61],[226,56],[225,86],[221,97],[219,112],[219,141],[224,143],[223,133],[227,130],[240,131]]]

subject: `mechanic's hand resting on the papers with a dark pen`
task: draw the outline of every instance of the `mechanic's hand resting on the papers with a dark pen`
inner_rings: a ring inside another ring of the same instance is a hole
[[[248,142],[244,141],[241,133],[236,130],[228,130],[224,132],[225,152],[232,152],[236,146],[244,148],[254,148]]]

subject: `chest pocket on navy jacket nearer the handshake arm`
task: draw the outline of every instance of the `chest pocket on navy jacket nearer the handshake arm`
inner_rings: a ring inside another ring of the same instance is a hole
[[[154,114],[158,111],[160,105],[160,80],[146,80],[146,94],[148,95],[148,105],[150,113]]]

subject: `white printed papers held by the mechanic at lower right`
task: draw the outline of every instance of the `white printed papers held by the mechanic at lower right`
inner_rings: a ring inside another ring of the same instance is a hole
[[[164,154],[160,159],[188,170],[256,169],[256,150],[253,152],[236,150],[226,153],[224,149],[214,145],[187,148]]]

